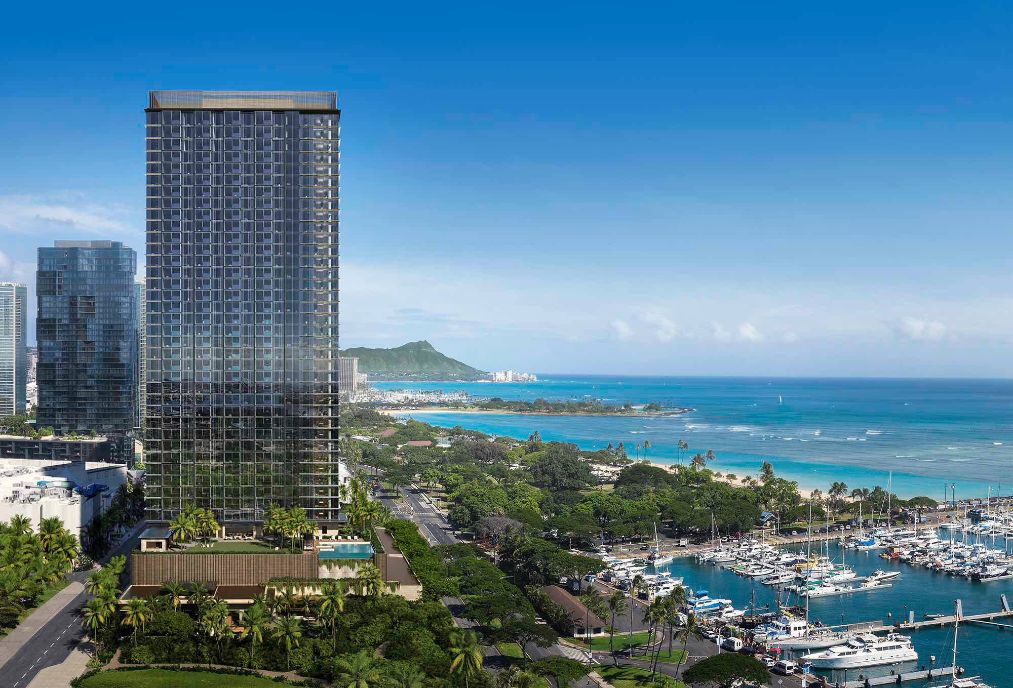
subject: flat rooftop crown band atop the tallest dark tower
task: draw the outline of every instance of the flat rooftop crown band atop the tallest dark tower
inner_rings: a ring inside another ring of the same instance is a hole
[[[336,91],[148,91],[154,110],[335,110]]]

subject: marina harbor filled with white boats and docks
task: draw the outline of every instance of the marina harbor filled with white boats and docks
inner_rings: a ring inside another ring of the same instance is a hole
[[[998,516],[1008,519],[1005,514]],[[881,546],[864,549],[854,546],[855,535],[836,541],[809,537],[807,544],[776,546],[715,543],[713,550],[677,557],[643,573],[682,578],[688,592],[702,590],[708,599],[718,599],[719,604],[702,614],[716,628],[741,624],[757,616],[753,609],[769,608],[764,617],[768,621],[761,621],[747,636],[799,665],[811,662],[813,674],[835,683],[857,687],[904,682],[921,688],[931,679],[951,676],[953,667],[946,666],[948,644],[959,626],[962,671],[996,686],[1001,685],[1008,662],[1003,631],[1013,629],[1007,598],[1013,584],[975,580],[972,571],[1008,566],[1005,535],[993,538],[993,533],[985,532],[971,530],[969,521],[954,528],[882,529],[876,536]],[[933,556],[921,561],[912,556],[919,549]],[[966,566],[955,571],[931,566],[950,552],[959,553]],[[834,576],[846,580],[830,582]],[[812,593],[806,595],[806,590]],[[861,590],[881,594],[856,594]],[[962,608],[955,614],[957,599]],[[873,658],[848,647],[862,643],[890,650]],[[856,655],[847,655],[851,652]],[[835,653],[841,657],[831,657]]]

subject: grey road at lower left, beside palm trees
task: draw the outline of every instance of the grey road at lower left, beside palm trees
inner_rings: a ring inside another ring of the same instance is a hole
[[[105,556],[105,561],[116,554],[127,554],[138,546],[141,541],[140,530],[113,551]],[[130,556],[127,557],[127,571],[121,578],[130,580]],[[84,583],[91,572],[81,572],[71,575],[71,580]],[[121,584],[121,588],[123,585]],[[81,626],[81,610],[89,595],[81,593],[72,598],[63,609],[57,612],[47,624],[35,631],[31,638],[14,653],[3,667],[0,667],[0,686],[18,688],[27,686],[31,679],[46,667],[60,664],[67,659],[77,643],[84,638]]]

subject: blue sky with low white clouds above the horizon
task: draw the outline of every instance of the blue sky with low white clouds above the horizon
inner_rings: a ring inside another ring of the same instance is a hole
[[[9,13],[0,278],[142,249],[149,89],[336,89],[345,346],[1010,375],[1013,6],[328,7]]]

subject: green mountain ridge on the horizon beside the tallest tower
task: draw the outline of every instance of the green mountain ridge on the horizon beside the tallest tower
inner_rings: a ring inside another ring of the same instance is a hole
[[[445,356],[421,340],[393,349],[370,349],[364,346],[344,349],[342,357],[358,358],[359,371],[371,379],[477,379],[486,373],[466,363]]]

